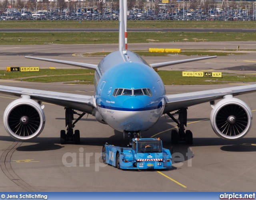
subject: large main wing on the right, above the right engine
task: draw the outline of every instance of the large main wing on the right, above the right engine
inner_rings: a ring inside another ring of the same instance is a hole
[[[240,95],[256,91],[256,84],[246,86],[236,86],[230,88],[220,88],[214,90],[204,90],[199,92],[188,92],[183,94],[171,94],[167,95],[167,102],[164,108],[164,114],[178,110],[180,108],[186,108],[188,106],[194,106],[205,102],[210,102],[223,98],[226,95]]]

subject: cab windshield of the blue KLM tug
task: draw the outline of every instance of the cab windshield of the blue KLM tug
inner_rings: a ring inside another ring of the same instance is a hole
[[[161,153],[162,152],[162,142],[156,140],[140,141],[138,140],[138,153]]]

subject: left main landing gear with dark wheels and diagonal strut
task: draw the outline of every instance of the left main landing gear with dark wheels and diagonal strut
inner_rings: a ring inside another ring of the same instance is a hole
[[[67,133],[65,130],[60,131],[60,144],[66,144],[67,142],[74,142],[75,144],[80,144],[80,132],[79,130],[75,130],[75,132],[73,132],[73,128],[75,127],[76,122],[78,122],[85,115],[85,113],[78,114],[71,108],[65,109],[66,126],[68,126],[68,128]],[[79,117],[73,123],[74,114],[79,115]]]

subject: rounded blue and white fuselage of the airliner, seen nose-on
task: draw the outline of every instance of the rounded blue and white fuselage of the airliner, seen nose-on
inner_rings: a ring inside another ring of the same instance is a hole
[[[97,110],[115,130],[148,130],[164,111],[166,93],[160,76],[133,52],[116,51],[103,58],[94,84]]]

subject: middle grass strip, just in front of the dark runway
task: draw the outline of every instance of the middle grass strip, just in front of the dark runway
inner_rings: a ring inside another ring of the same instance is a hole
[[[255,38],[256,32],[129,32],[128,43],[255,41]],[[0,45],[51,43],[118,44],[118,32],[0,33]]]

